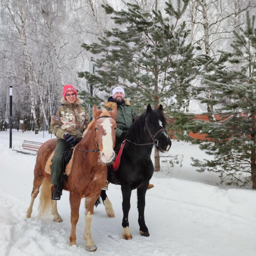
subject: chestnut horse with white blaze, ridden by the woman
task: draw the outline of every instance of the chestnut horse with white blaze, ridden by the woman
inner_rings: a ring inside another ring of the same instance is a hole
[[[70,192],[71,232],[70,246],[76,245],[76,224],[79,218],[81,198],[85,197],[85,231],[86,250],[96,251],[97,247],[91,239],[91,220],[94,214],[94,204],[100,196],[101,189],[107,179],[107,165],[115,156],[113,151],[116,140],[117,109],[98,110],[94,105],[94,120],[84,132],[83,138],[75,146],[73,163],[68,181],[64,182],[64,190]],[[53,186],[50,175],[44,172],[46,162],[57,144],[57,139],[50,139],[38,150],[34,168],[34,182],[31,193],[31,203],[27,209],[27,218],[31,217],[32,207],[41,186],[39,217],[51,212],[54,222],[62,222],[57,210],[57,201],[51,200]],[[92,152],[94,151],[94,152]],[[99,152],[98,153],[95,153]]]

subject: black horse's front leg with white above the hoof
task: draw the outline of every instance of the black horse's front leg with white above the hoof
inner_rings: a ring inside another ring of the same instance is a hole
[[[130,210],[130,196],[132,193],[132,189],[129,185],[122,185],[121,190],[123,195],[123,239],[130,240],[132,239],[132,234],[129,229],[128,215]]]

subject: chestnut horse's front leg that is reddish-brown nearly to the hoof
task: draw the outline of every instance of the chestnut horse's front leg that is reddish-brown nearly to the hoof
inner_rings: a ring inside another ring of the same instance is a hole
[[[69,236],[69,241],[70,241],[70,246],[76,245],[76,224],[78,223],[79,219],[79,207],[81,203],[81,197],[78,194],[71,193],[69,196],[69,201],[70,201],[70,207],[71,207],[71,231],[70,231],[70,236]]]

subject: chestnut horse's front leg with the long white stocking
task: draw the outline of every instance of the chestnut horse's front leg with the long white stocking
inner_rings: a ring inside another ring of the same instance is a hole
[[[87,251],[96,251],[97,247],[91,239],[91,221],[94,214],[94,204],[98,197],[90,197],[85,199],[85,232],[84,238],[86,241]]]

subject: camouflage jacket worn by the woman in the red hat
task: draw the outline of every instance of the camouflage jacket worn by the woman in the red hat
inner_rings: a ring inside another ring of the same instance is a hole
[[[53,112],[50,126],[52,133],[58,139],[63,139],[65,133],[73,135],[75,139],[82,138],[90,121],[84,107],[80,106],[80,99],[76,98],[73,104],[64,98],[61,102],[63,104],[57,106]]]

